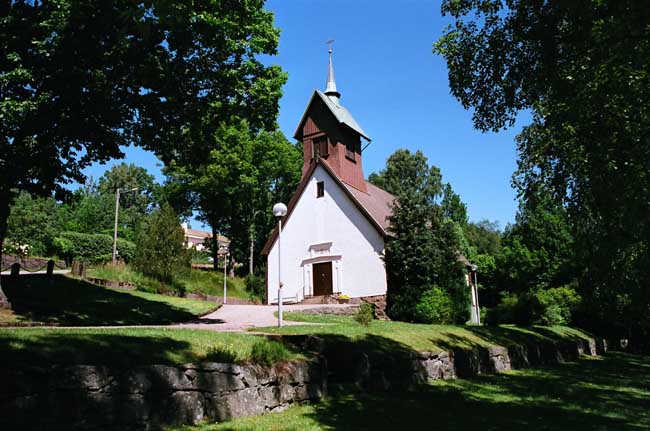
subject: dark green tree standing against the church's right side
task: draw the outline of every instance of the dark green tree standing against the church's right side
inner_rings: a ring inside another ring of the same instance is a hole
[[[455,298],[462,278],[457,236],[438,204],[440,170],[420,151],[397,150],[369,179],[396,196],[386,239],[387,312],[394,319],[418,320],[427,291],[440,286]]]

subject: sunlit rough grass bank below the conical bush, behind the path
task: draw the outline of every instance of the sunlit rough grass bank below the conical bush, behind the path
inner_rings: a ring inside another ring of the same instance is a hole
[[[223,273],[192,269],[179,274],[173,283],[166,284],[147,277],[130,266],[103,265],[87,271],[88,277],[133,283],[139,290],[148,292],[185,292],[223,296]],[[250,299],[243,278],[226,278],[227,294],[231,298]]]

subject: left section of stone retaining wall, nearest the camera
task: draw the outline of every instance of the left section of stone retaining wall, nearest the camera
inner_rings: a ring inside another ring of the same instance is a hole
[[[319,400],[326,365],[14,367],[0,369],[0,381],[0,429],[156,430]]]

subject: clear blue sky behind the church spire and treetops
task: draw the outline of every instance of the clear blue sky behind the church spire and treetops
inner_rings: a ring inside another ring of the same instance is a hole
[[[419,149],[467,203],[471,220],[496,220],[502,227],[514,220],[510,178],[514,137],[523,123],[500,133],[473,129],[471,112],[449,93],[444,61],[432,53],[449,23],[439,1],[270,0],[267,9],[282,29],[279,54],[269,61],[289,74],[278,119],[288,137],[313,90],[325,88],[325,42],[335,39],[341,102],[372,138],[363,155],[366,176],[398,148]],[[162,180],[155,156],[137,148],[126,155]],[[97,178],[119,162],[86,173]]]

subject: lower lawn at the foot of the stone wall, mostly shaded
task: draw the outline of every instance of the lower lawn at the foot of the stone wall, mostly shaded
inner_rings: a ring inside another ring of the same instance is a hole
[[[609,353],[410,392],[330,388],[324,402],[183,431],[645,430],[650,358]]]

